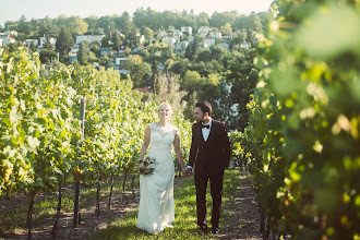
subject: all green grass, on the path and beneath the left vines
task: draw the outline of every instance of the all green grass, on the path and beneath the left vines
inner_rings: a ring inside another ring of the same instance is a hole
[[[220,218],[220,229],[229,228],[228,221],[232,214],[237,189],[240,188],[239,170],[227,170],[224,177],[223,207]],[[122,180],[122,179],[121,179]],[[121,193],[122,181],[115,184],[115,195]],[[135,187],[139,185],[139,179],[135,180]],[[127,181],[127,190],[130,189],[130,180]],[[108,194],[109,184],[101,185],[101,195]],[[211,216],[212,203],[209,185],[207,190],[207,211],[208,221]],[[48,219],[55,220],[58,197],[56,193],[46,194],[44,199],[37,197],[33,212],[33,228],[44,225]],[[11,235],[16,229],[24,229],[26,225],[27,207],[29,200],[25,197],[24,205],[20,207],[9,207],[0,214],[0,236]],[[73,211],[73,193],[62,195],[61,213]],[[196,207],[195,207],[195,188],[193,178],[183,179],[178,188],[175,189],[176,216],[173,228],[165,229],[157,236],[149,235],[136,228],[137,211],[130,212],[123,219],[113,220],[107,229],[93,235],[93,239],[216,239],[209,236],[202,236],[197,232]],[[10,199],[11,201],[11,199]],[[82,189],[81,207],[96,204],[96,188]],[[109,219],[112,220],[112,219]]]

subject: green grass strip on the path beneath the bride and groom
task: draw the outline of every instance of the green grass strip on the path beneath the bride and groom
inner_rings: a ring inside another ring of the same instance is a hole
[[[220,218],[220,229],[230,226],[229,218],[235,206],[233,199],[240,188],[239,170],[227,170],[224,177],[223,211]],[[181,184],[175,189],[175,224],[173,228],[167,228],[159,235],[151,235],[136,228],[137,211],[129,213],[123,219],[111,223],[107,229],[100,230],[92,236],[92,239],[216,239],[212,235],[201,235],[196,225],[195,188],[193,178],[182,180]],[[209,184],[207,188],[207,217],[211,216],[211,194]]]

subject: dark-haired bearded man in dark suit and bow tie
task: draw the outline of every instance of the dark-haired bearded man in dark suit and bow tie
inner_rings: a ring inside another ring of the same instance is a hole
[[[213,199],[212,232],[219,233],[219,218],[223,192],[224,170],[229,166],[230,142],[226,125],[212,119],[212,106],[208,101],[195,104],[192,125],[192,143],[188,172],[195,165],[195,189],[197,225],[200,230],[207,232],[206,225],[206,185],[209,180]]]

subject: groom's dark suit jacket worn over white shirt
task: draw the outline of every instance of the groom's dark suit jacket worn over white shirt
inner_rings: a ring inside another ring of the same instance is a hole
[[[212,128],[206,142],[201,125],[202,123],[199,122],[192,125],[192,143],[188,165],[195,165],[195,172],[202,169],[224,170],[229,167],[230,161],[230,141],[225,123],[212,120]]]

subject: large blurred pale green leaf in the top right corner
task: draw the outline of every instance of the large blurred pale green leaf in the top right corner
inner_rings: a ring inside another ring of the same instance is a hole
[[[331,58],[346,51],[360,53],[359,14],[343,3],[323,7],[297,34],[299,47],[314,58]]]

